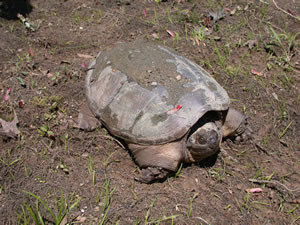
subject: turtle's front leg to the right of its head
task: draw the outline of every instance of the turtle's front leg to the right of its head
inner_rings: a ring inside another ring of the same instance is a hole
[[[252,138],[253,131],[249,127],[247,117],[241,112],[229,108],[222,126],[223,138],[232,138],[243,142]]]

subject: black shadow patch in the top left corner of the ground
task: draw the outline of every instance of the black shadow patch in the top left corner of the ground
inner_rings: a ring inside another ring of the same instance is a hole
[[[30,0],[0,0],[0,17],[17,19],[18,14],[28,15],[32,11]]]

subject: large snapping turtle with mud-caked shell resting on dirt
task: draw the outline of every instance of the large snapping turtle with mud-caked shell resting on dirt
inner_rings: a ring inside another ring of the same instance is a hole
[[[199,65],[151,43],[119,43],[100,52],[86,78],[89,108],[128,145],[151,183],[219,151],[222,138],[247,138],[246,117]]]

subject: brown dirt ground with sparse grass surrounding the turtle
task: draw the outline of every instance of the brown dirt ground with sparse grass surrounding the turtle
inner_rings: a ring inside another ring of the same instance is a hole
[[[300,224],[298,0],[22,7],[30,28],[14,5],[0,18],[0,118],[15,111],[20,131],[0,136],[0,224],[43,224],[34,215],[45,224]],[[214,14],[222,9],[223,18]],[[226,140],[213,160],[183,165],[164,182],[136,182],[139,168],[104,128],[76,128],[87,65],[134,40],[203,66],[249,117],[253,139]]]

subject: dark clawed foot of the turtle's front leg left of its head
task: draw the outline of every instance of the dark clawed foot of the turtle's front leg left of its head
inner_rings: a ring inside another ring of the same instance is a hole
[[[150,184],[157,180],[165,179],[169,174],[167,169],[161,167],[147,167],[141,170],[141,174],[134,179],[141,183]]]

